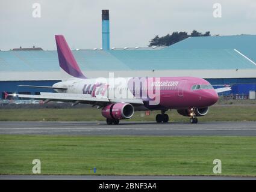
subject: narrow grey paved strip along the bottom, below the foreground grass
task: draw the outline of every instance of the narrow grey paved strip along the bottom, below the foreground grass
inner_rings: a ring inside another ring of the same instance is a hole
[[[256,177],[175,175],[0,175],[0,180],[256,180]]]

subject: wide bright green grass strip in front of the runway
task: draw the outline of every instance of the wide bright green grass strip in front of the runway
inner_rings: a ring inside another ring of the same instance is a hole
[[[236,136],[15,136],[0,135],[0,173],[42,174],[256,175],[256,137]]]

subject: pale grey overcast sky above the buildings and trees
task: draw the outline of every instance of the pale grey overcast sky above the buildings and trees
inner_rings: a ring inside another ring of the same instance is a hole
[[[41,16],[33,17],[33,4]],[[221,17],[214,17],[221,5]],[[101,10],[110,10],[110,47],[146,47],[155,35],[210,31],[256,34],[255,0],[1,0],[0,49],[56,50],[55,34],[71,49],[101,48]]]

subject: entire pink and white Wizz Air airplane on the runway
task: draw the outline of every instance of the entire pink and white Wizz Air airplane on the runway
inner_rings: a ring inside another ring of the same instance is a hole
[[[168,122],[167,110],[176,109],[180,115],[189,116],[197,123],[197,116],[208,113],[209,106],[218,100],[218,92],[231,88],[214,89],[207,80],[198,77],[110,77],[88,79],[81,72],[63,35],[55,35],[60,67],[72,79],[52,86],[29,86],[52,88],[56,92],[40,92],[40,95],[17,94],[20,98],[83,103],[102,108],[107,124],[119,124],[120,119],[130,119],[134,111],[159,110],[156,121]]]

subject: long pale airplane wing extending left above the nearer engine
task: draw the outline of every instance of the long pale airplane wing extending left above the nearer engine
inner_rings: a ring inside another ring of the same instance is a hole
[[[86,97],[84,94],[66,94],[66,93],[53,93],[53,92],[40,92],[40,95],[24,95],[16,94],[15,96],[20,98],[34,98],[36,100],[45,100],[46,103],[49,101],[62,101],[68,103],[84,103],[84,104],[95,104],[98,106],[105,106],[109,103],[125,102],[133,105],[144,104],[142,99],[108,99],[108,98],[96,98]]]

